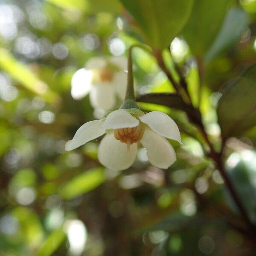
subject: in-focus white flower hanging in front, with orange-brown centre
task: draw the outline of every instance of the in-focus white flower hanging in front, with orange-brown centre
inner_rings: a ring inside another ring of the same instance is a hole
[[[73,150],[106,134],[98,150],[98,159],[103,166],[114,170],[128,169],[134,163],[141,143],[147,149],[149,162],[167,169],[175,162],[176,154],[166,138],[181,143],[176,123],[160,111],[146,114],[140,110],[137,114],[128,111],[119,109],[111,112],[106,119],[85,123],[67,142],[66,150]]]

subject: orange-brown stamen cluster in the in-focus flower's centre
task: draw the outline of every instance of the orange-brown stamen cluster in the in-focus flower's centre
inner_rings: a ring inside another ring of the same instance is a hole
[[[131,144],[140,141],[143,137],[145,126],[140,122],[136,127],[115,129],[114,136],[116,140],[127,143],[129,147]]]

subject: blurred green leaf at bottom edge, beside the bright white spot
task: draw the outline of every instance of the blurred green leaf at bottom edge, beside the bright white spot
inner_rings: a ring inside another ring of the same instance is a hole
[[[66,239],[66,233],[62,230],[62,228],[59,228],[55,231],[53,231],[47,239],[44,241],[44,243],[41,245],[41,247],[38,249],[36,256],[50,256],[52,253],[55,252],[55,250],[58,249],[58,247],[63,243],[63,241]]]

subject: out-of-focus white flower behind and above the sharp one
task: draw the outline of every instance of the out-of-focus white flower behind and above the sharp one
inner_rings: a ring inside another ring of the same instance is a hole
[[[127,60],[124,57],[90,58],[71,80],[71,95],[82,99],[90,93],[90,103],[97,110],[115,107],[116,96],[125,98]]]

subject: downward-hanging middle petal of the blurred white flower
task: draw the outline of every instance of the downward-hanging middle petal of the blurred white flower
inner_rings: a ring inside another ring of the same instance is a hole
[[[90,103],[93,108],[111,110],[116,103],[113,86],[109,83],[93,84],[90,91]]]

